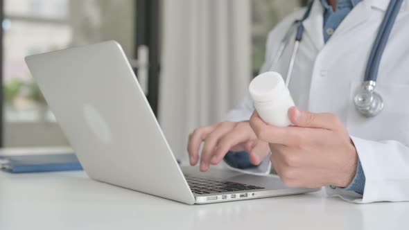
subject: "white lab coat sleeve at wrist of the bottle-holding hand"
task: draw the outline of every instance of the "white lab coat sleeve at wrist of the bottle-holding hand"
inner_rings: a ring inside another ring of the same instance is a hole
[[[399,141],[351,139],[365,174],[363,195],[331,187],[327,193],[355,203],[409,201],[408,146]]]

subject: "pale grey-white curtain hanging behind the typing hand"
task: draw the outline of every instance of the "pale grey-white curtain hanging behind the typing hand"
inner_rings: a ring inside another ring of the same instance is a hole
[[[159,123],[176,157],[195,127],[222,121],[251,77],[250,0],[163,1]]]

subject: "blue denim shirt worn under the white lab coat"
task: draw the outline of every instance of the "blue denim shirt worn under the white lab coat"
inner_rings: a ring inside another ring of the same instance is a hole
[[[342,20],[345,19],[354,6],[362,0],[338,0],[335,11],[333,11],[332,6],[329,5],[327,0],[320,1],[324,7],[324,42],[327,42],[335,32],[336,28],[341,24]],[[250,163],[247,152],[228,152],[225,156],[225,162],[234,168],[245,169],[254,167],[252,163]],[[364,187],[365,174],[360,164],[360,160],[358,159],[356,175],[345,190],[363,194]]]

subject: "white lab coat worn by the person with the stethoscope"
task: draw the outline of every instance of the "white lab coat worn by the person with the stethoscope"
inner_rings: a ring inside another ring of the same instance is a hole
[[[305,33],[289,89],[297,106],[339,116],[354,141],[366,177],[363,195],[327,188],[329,195],[362,203],[409,200],[408,1],[401,7],[383,53],[376,91],[383,97],[385,107],[374,118],[358,114],[352,98],[363,81],[369,51],[389,1],[363,0],[358,3],[326,44],[320,1],[315,0],[310,17],[304,21]],[[261,72],[278,71],[285,78],[293,38],[275,69],[270,69],[271,62],[288,27],[301,18],[304,11],[289,15],[269,33],[266,62]],[[253,111],[247,94],[241,105],[229,112],[227,120],[246,121]],[[268,170],[266,163],[261,170]]]

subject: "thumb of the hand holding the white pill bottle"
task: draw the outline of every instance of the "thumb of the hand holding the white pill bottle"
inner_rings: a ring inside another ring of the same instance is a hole
[[[330,113],[312,113],[298,107],[288,109],[288,118],[299,127],[314,127],[333,130],[340,123],[338,117]]]

